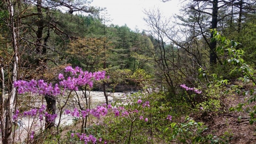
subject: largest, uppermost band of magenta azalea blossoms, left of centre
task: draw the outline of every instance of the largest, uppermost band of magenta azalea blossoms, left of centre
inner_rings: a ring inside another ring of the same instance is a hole
[[[93,80],[101,80],[105,79],[105,71],[98,72],[88,72],[83,71],[81,68],[76,67],[75,69],[71,66],[67,66],[65,68],[65,73],[70,74],[66,79],[64,77],[65,74],[59,74],[58,78],[60,80],[59,84],[53,85],[52,83],[46,83],[44,80],[34,80],[24,81],[18,80],[13,84],[15,87],[18,87],[17,91],[19,94],[23,94],[25,92],[32,92],[41,95],[52,95],[57,96],[60,93],[64,93],[65,90],[78,90],[79,86],[83,86],[88,84],[90,87],[93,85]]]

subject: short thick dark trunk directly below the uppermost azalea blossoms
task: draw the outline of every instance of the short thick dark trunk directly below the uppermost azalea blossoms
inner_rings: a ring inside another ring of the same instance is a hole
[[[54,96],[44,95],[44,98],[45,98],[46,104],[47,104],[46,105],[47,112],[51,115],[54,115],[55,111],[56,111],[56,100],[55,100]],[[55,126],[55,119],[54,119],[54,121],[50,121],[49,119],[45,118],[44,130],[48,130],[54,126]]]

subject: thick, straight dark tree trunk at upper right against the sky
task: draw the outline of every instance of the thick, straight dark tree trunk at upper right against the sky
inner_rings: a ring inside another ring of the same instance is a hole
[[[213,0],[212,2],[212,29],[217,28],[217,19],[218,18],[218,0]],[[213,32],[211,33],[211,38],[213,37]],[[211,42],[211,50],[210,50],[210,64],[217,64],[217,55],[216,55],[216,45],[217,42]]]

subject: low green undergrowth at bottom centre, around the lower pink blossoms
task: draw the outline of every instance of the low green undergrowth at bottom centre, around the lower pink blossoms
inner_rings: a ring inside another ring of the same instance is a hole
[[[140,107],[140,104],[136,103],[138,99],[143,102],[150,101],[150,107]],[[110,114],[100,124],[88,127],[86,129],[87,134],[92,134],[97,138],[102,138],[102,140],[112,143],[128,143],[132,124],[132,139],[130,141],[132,144],[144,144],[147,141],[154,143],[187,143],[190,141],[193,144],[226,144],[231,140],[231,135],[228,132],[221,137],[216,137],[212,134],[204,135],[208,128],[203,123],[196,122],[188,116],[185,122],[177,122],[179,120],[178,117],[188,114],[178,112],[184,112],[188,107],[184,107],[184,103],[178,104],[173,100],[170,101],[164,93],[135,93],[125,101],[128,102],[126,105],[122,104],[121,101],[116,101],[114,105],[117,108],[124,107],[124,109],[138,110],[139,112],[121,117],[114,117]],[[167,115],[173,116],[173,122],[166,119]],[[140,116],[147,117],[148,122],[145,122],[144,119],[140,120]],[[68,141],[77,142],[78,138],[71,138],[70,133],[67,133]],[[154,140],[151,139],[151,135]]]

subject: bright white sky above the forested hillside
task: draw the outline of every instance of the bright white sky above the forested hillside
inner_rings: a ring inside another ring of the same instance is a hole
[[[119,26],[127,24],[132,30],[137,26],[141,31],[147,29],[143,21],[144,9],[159,7],[164,16],[170,17],[179,12],[182,4],[180,4],[180,0],[171,0],[165,3],[162,0],[93,0],[90,5],[106,7],[110,19],[112,19],[108,24],[113,23]]]

